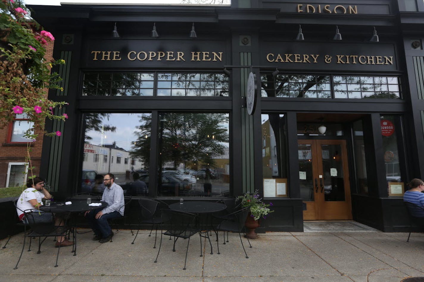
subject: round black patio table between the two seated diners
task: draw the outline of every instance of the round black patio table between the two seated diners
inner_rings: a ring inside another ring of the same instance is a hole
[[[101,201],[92,201],[92,203],[100,203],[100,206],[89,206],[89,204],[87,204],[87,200],[86,199],[73,199],[72,204],[70,205],[66,205],[65,202],[52,202],[50,204],[50,206],[46,206],[46,205],[42,205],[40,207],[40,210],[42,211],[47,211],[47,212],[68,212],[71,213],[71,216],[75,215],[76,213],[83,213],[86,212],[88,210],[95,210],[98,208],[103,208],[103,207],[107,207],[107,203],[106,202],[101,202]],[[74,256],[77,255],[77,239],[76,239],[76,219],[75,216],[73,216],[73,239],[74,239],[74,244],[73,244],[73,249],[72,252],[74,253]]]

